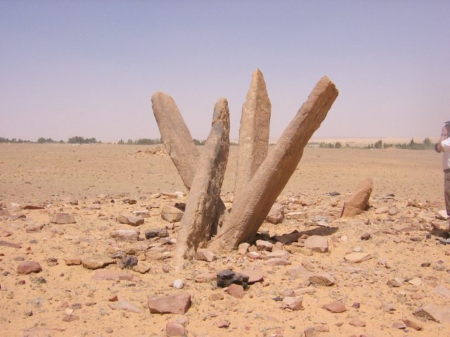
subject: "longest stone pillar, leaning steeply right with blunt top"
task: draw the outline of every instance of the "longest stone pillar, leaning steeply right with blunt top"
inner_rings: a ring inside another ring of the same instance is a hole
[[[328,77],[314,87],[307,101],[264,159],[247,188],[233,204],[221,233],[210,243],[212,251],[231,251],[241,242],[252,242],[271,206],[293,175],[303,149],[325,119],[338,89]]]

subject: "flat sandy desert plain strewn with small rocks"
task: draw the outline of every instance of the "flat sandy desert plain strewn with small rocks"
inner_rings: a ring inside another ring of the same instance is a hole
[[[228,208],[236,155],[231,147]],[[370,208],[340,218],[365,178]],[[0,144],[0,335],[450,336],[442,185],[433,151],[307,147],[278,197],[283,222],[259,230],[269,243],[176,272],[179,223],[161,212],[188,195],[162,146]],[[53,223],[58,213],[75,223]],[[123,213],[143,223],[120,223]],[[308,249],[312,236],[326,244]],[[237,298],[217,286],[222,270],[256,282]],[[186,312],[150,313],[149,297],[179,293],[191,296]],[[283,308],[290,300],[302,304]]]

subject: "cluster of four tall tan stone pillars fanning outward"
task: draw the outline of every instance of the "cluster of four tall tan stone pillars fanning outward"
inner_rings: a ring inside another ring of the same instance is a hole
[[[174,100],[162,92],[152,96],[153,113],[167,153],[190,190],[177,239],[176,265],[192,258],[197,249],[205,246],[214,252],[226,252],[255,239],[257,230],[302,158],[304,146],[337,96],[335,85],[328,77],[323,77],[268,156],[271,103],[262,72],[253,73],[240,122],[231,211],[226,210],[220,198],[229,152],[226,100],[219,99],[214,107],[210,136],[199,155]]]

